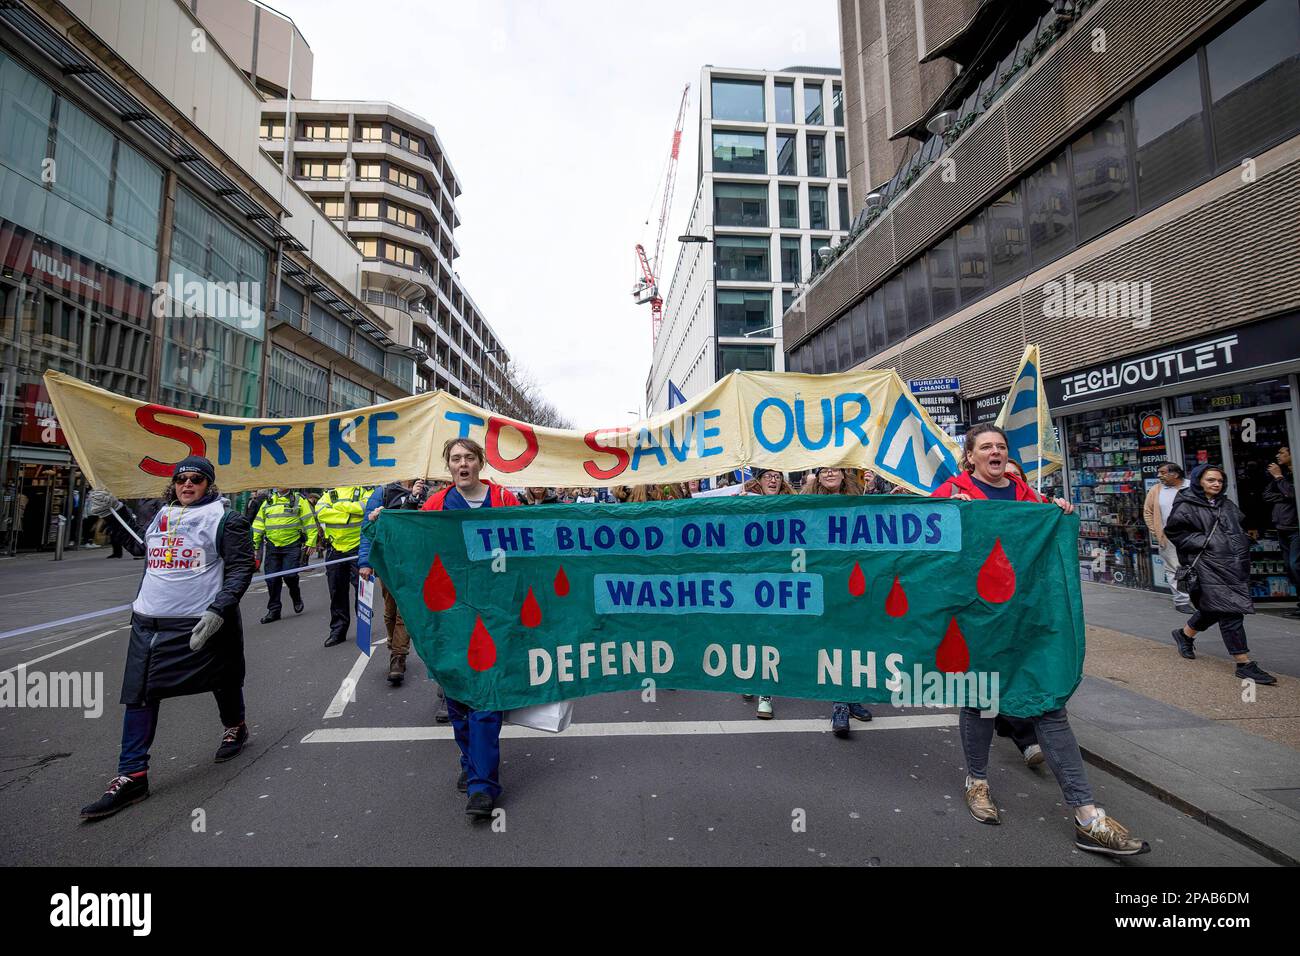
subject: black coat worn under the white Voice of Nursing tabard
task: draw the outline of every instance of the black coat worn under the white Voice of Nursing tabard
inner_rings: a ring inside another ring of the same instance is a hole
[[[136,535],[144,533],[127,509],[118,514]],[[116,522],[114,522],[116,523]],[[148,525],[144,525],[144,531]],[[144,545],[127,537],[131,554],[144,554]],[[182,697],[233,687],[244,678],[243,620],[239,600],[254,575],[252,525],[238,511],[228,511],[221,529],[224,562],[221,591],[208,605],[225,623],[199,650],[190,650],[190,631],[198,618],[142,618],[131,615],[131,637],[122,675],[122,704],[146,704],[164,697]]]

